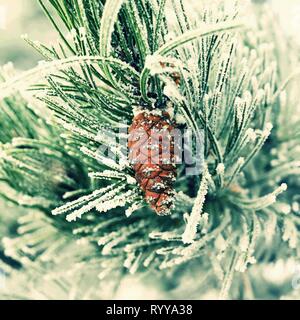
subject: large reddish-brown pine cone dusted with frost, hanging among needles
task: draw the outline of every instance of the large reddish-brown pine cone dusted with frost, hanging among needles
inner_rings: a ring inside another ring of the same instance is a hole
[[[129,128],[129,160],[145,199],[158,215],[166,215],[173,205],[176,180],[174,123],[167,112],[137,114]]]

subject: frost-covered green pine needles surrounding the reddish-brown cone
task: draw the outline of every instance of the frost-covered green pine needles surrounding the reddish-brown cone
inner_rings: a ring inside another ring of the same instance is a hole
[[[44,61],[1,72],[0,194],[24,207],[3,230],[3,296],[109,297],[131,273],[179,297],[184,279],[191,297],[261,297],[259,268],[300,256],[297,49],[268,9],[253,5],[249,25],[234,1],[39,2],[59,43],[24,37]],[[167,107],[203,133],[205,164],[178,168],[175,208],[159,217],[115,135]]]

